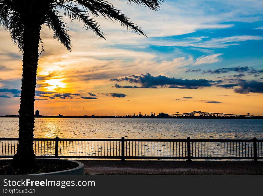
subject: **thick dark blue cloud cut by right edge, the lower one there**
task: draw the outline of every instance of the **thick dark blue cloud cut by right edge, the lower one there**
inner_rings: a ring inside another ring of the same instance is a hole
[[[247,94],[250,92],[253,93],[263,93],[263,82],[259,81],[240,81],[240,88],[234,89],[234,92]]]

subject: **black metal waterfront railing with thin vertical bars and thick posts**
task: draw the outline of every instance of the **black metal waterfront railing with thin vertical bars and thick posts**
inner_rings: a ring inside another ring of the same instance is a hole
[[[38,158],[263,159],[263,140],[253,139],[63,139],[34,138]],[[12,158],[17,138],[0,138],[0,158]]]

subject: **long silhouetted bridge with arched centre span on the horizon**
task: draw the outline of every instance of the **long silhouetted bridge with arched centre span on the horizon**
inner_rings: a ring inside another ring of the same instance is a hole
[[[182,116],[195,116],[195,114],[199,114],[200,116],[211,116],[211,117],[252,117],[253,115],[239,115],[239,114],[224,114],[224,113],[212,113],[212,112],[201,112],[201,111],[193,111],[182,114],[171,114],[171,117],[182,117]]]

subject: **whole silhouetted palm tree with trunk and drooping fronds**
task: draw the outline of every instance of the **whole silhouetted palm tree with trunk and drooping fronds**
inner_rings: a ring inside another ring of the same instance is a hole
[[[125,0],[129,4],[158,10],[163,0]],[[84,23],[86,30],[92,30],[98,38],[105,39],[94,17],[120,22],[135,33],[146,36],[136,24],[122,11],[104,0],[0,0],[0,22],[10,32],[14,44],[23,51],[22,87],[19,109],[19,144],[14,156],[14,163],[33,166],[34,102],[36,88],[36,70],[39,57],[40,30],[45,24],[53,30],[57,39],[71,51],[71,38],[60,11],[72,21]]]

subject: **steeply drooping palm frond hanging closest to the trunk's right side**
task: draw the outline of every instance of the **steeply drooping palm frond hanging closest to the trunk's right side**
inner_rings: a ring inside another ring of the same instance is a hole
[[[47,13],[46,25],[50,30],[53,30],[53,38],[62,43],[69,51],[71,51],[71,38],[68,34],[67,26],[62,21],[57,10],[49,10]]]

